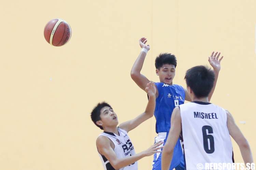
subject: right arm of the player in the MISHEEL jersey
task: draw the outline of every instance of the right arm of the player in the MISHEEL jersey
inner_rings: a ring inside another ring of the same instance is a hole
[[[228,111],[226,111],[226,113],[229,134],[237,142],[244,160],[244,164],[253,163],[253,156],[248,141],[245,139],[244,135],[234,122],[232,115]]]

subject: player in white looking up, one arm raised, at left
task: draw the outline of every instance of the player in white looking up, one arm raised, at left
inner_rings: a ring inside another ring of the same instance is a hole
[[[128,136],[128,132],[136,128],[145,120],[153,117],[155,110],[156,88],[149,82],[145,91],[148,94],[148,103],[145,112],[136,118],[121,123],[118,127],[117,115],[113,108],[105,102],[98,105],[91,112],[91,120],[100,129],[104,130],[96,140],[96,146],[105,170],[137,170],[137,161],[145,156],[160,152],[162,141],[138,154]]]

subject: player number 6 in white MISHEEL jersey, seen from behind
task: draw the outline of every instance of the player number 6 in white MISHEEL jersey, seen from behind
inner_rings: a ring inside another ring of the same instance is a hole
[[[214,169],[224,169],[225,167],[219,167],[224,164],[232,165],[234,159],[230,135],[237,142],[245,165],[253,163],[250,146],[231,114],[222,107],[209,103],[214,77],[214,72],[205,66],[187,70],[185,79],[192,102],[173,110],[172,126],[162,151],[162,170],[169,170],[180,135],[183,138],[187,170],[209,169],[210,166],[206,167],[207,163],[218,165]]]

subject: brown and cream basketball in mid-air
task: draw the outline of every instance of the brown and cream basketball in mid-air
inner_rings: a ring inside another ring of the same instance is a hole
[[[53,46],[63,46],[71,37],[71,28],[63,19],[53,19],[44,28],[45,40]]]

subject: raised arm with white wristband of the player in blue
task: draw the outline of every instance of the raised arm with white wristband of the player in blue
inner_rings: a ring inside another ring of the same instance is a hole
[[[146,42],[147,39],[144,37],[139,40],[140,47],[145,51],[149,51],[150,45],[145,45]],[[131,78],[142,90],[145,90],[147,83],[150,82],[143,74],[140,73],[146,57],[145,51],[140,52],[138,58],[136,59],[131,68]]]

